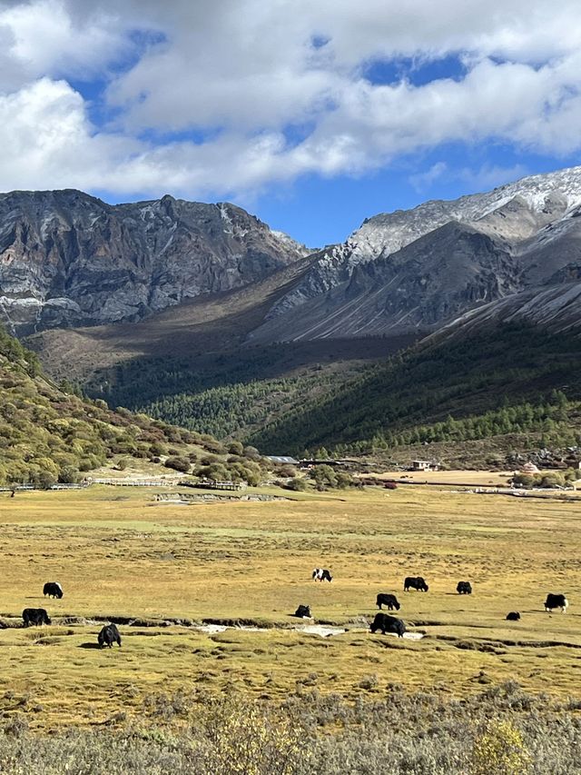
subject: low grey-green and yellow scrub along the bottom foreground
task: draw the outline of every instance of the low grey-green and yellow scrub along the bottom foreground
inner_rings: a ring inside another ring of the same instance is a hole
[[[372,677],[369,684],[372,684]],[[20,717],[0,732],[8,775],[92,772],[199,775],[574,775],[581,755],[578,703],[533,697],[514,682],[458,701],[397,684],[346,702],[317,691],[280,705],[236,692],[221,698],[180,692],[148,699],[120,727],[31,734]]]

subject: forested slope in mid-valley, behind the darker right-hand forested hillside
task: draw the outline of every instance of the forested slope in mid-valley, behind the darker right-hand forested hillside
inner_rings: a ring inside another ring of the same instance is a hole
[[[252,432],[385,359],[409,338],[331,343],[281,343],[194,353],[190,357],[134,358],[95,372],[84,390],[112,406],[225,438]]]

